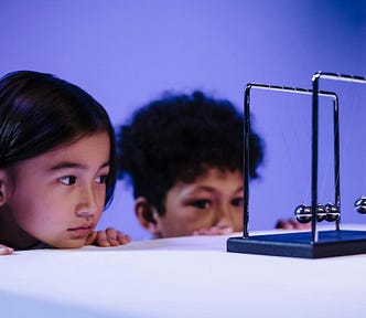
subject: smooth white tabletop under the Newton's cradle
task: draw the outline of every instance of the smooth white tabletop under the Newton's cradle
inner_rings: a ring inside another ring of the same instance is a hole
[[[227,253],[227,237],[2,256],[0,317],[366,317],[366,255]]]

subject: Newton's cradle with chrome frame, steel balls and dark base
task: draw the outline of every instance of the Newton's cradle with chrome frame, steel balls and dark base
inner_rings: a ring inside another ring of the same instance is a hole
[[[335,73],[317,72],[312,77],[312,89],[276,86],[267,84],[247,84],[244,96],[244,230],[243,236],[227,240],[227,252],[321,258],[366,253],[366,231],[341,230],[340,191],[340,120],[338,97],[333,92],[319,89],[321,78],[366,84],[366,77]],[[311,222],[311,231],[266,235],[249,235],[249,136],[250,136],[250,91],[265,89],[292,94],[312,95],[312,145],[311,145],[311,205],[300,204],[294,216],[301,223]],[[319,145],[319,96],[333,100],[333,147],[334,147],[334,202],[317,202],[317,145]],[[355,201],[355,210],[366,214],[366,197]],[[319,231],[317,222],[334,222],[334,230]]]

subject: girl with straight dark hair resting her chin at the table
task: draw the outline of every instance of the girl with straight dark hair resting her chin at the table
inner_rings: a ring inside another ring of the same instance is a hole
[[[106,110],[51,74],[0,80],[0,254],[13,248],[130,241],[94,232],[116,183],[115,135]]]

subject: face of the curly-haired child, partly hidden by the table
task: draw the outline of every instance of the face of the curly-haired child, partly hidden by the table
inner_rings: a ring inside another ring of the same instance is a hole
[[[155,216],[155,236],[228,234],[243,231],[243,173],[208,169],[192,183],[166,193],[165,214]]]

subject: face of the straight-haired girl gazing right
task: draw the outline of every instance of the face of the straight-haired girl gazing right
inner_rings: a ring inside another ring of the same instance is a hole
[[[99,132],[12,167],[6,204],[15,225],[54,247],[85,245],[105,205],[109,142]]]

